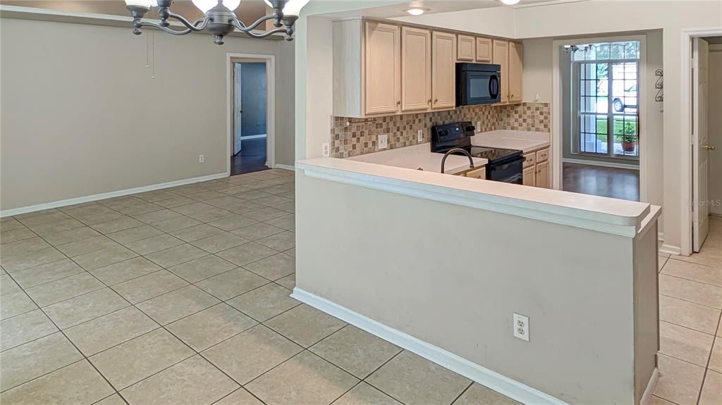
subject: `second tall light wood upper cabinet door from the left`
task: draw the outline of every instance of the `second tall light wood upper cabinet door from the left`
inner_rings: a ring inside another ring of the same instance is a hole
[[[401,110],[429,110],[431,102],[431,31],[401,27]]]

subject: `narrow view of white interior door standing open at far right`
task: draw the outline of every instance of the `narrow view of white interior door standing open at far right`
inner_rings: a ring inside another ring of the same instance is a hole
[[[700,252],[710,231],[709,45],[701,38],[692,41],[692,249]]]

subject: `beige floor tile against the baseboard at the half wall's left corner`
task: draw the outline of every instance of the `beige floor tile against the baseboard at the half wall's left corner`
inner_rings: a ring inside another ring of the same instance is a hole
[[[303,347],[309,347],[346,326],[346,322],[305,304],[286,311],[265,324]]]

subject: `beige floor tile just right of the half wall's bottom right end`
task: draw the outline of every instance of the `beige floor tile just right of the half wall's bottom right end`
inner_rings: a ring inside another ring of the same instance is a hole
[[[679,405],[697,404],[705,369],[665,355],[657,356],[659,382],[654,395]]]

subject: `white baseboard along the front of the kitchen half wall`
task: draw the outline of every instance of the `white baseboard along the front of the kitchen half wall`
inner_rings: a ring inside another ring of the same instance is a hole
[[[380,337],[388,342],[396,344],[409,352],[416,353],[427,360],[435,362],[438,365],[448,368],[449,370],[464,375],[464,377],[474,380],[475,382],[491,388],[498,393],[508,396],[511,399],[521,402],[522,404],[534,405],[568,405],[566,402],[554,398],[547,393],[543,393],[535,388],[526,386],[511,378],[505,377],[495,371],[484,368],[474,362],[447,352],[440,347],[429,344],[402,331],[393,329],[384,324],[380,324],[373,319],[351,311],[348,308],[332,303],[318,295],[308,293],[301,288],[294,288],[291,296],[298,301],[306,303],[313,308],[329,313],[338,319],[365,330],[370,334]]]

